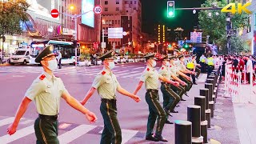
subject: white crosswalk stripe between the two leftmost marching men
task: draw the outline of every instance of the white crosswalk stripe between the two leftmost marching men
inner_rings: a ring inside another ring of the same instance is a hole
[[[81,137],[83,134],[86,134],[88,131],[93,130],[97,126],[91,125],[80,125],[73,130],[70,130],[60,136],[58,136],[59,143],[66,144],[74,141],[74,139]]]

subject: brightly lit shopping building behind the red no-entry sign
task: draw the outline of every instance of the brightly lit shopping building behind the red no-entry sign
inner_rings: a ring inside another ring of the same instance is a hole
[[[88,1],[88,2],[87,2]],[[20,35],[6,35],[4,53],[6,55],[14,53],[14,50],[30,46],[31,42],[44,40],[58,40],[71,42],[75,38],[74,18],[68,14],[82,14],[90,7],[90,12],[83,14],[77,20],[77,40],[85,45],[83,47],[93,48],[94,42],[100,42],[100,17],[94,15],[94,5],[98,1],[89,0],[46,0],[34,1],[26,0],[30,4],[27,10],[29,21],[21,22],[23,33]],[[70,6],[74,10],[69,10]],[[59,11],[58,18],[52,18],[51,10]],[[62,15],[63,14],[63,15]],[[90,21],[90,24],[82,21]],[[2,42],[0,42],[2,47]]]

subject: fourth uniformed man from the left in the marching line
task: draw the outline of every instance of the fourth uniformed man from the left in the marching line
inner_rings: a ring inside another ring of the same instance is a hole
[[[170,79],[172,74],[169,69],[169,66],[170,66],[170,62],[169,62],[168,56],[166,56],[162,60],[162,67],[160,68],[158,73],[162,75],[162,77]],[[162,98],[163,98],[163,109],[166,111],[166,123],[173,124],[173,122],[170,122],[170,120],[168,120],[169,115],[172,116],[170,114],[170,110],[174,112],[174,108],[178,104],[181,98],[178,96],[178,94],[174,92],[174,90],[170,89],[169,83],[166,83],[166,82],[161,82],[161,83],[162,83],[161,91],[162,91]]]

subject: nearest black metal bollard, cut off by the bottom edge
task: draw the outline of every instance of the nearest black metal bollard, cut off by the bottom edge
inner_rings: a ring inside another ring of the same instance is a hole
[[[176,120],[175,123],[175,144],[191,144],[192,122]]]

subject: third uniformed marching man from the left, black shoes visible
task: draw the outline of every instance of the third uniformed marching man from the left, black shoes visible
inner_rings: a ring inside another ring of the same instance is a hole
[[[155,54],[148,54],[144,58],[146,58],[146,70],[142,73],[140,78],[140,82],[134,94],[138,93],[138,90],[142,88],[143,83],[145,82],[146,86],[146,102],[149,105],[149,117],[147,122],[147,130],[146,130],[146,140],[150,141],[162,141],[167,142],[166,138],[162,137],[162,128],[166,122],[166,112],[162,108],[159,102],[158,95],[158,79],[162,82],[172,83],[174,86],[178,86],[178,82],[171,81],[169,78],[164,78],[160,74],[158,74],[157,70],[154,70],[154,66],[156,66],[156,61],[154,58]],[[157,128],[155,135],[152,134],[154,129],[154,123],[157,119]]]

